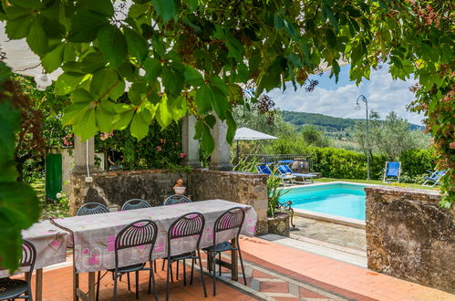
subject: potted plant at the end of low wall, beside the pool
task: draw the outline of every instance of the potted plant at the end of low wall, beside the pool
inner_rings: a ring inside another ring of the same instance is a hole
[[[280,202],[280,198],[288,191],[281,189],[282,179],[271,174],[267,178],[268,202],[268,233],[289,236],[289,223],[294,211],[291,201]]]

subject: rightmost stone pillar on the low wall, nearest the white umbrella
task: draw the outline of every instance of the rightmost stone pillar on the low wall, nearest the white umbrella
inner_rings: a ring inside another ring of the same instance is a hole
[[[215,148],[211,155],[209,168],[214,171],[232,171],[231,165],[231,145],[226,141],[228,126],[225,121],[216,119],[213,126],[212,137],[215,142]]]

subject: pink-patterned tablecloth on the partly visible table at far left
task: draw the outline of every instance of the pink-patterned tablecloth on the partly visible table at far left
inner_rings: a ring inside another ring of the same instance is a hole
[[[50,221],[32,224],[30,228],[22,231],[22,237],[35,245],[36,269],[64,263],[67,260],[69,234]],[[8,271],[0,271],[0,278],[8,275]]]

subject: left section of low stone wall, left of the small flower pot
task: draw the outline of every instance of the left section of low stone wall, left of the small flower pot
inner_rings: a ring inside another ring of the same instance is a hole
[[[105,171],[90,174],[93,182],[85,182],[85,174],[72,173],[70,214],[74,215],[84,202],[101,202],[108,206],[121,205],[130,199],[143,199],[153,206],[174,194],[178,179],[188,182],[185,173],[164,170]]]

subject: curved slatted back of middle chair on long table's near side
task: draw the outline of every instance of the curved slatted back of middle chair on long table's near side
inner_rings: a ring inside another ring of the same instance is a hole
[[[202,213],[186,213],[172,223],[168,230],[168,256],[171,255],[171,240],[182,237],[197,235],[198,240],[192,250],[199,250],[204,225]]]

